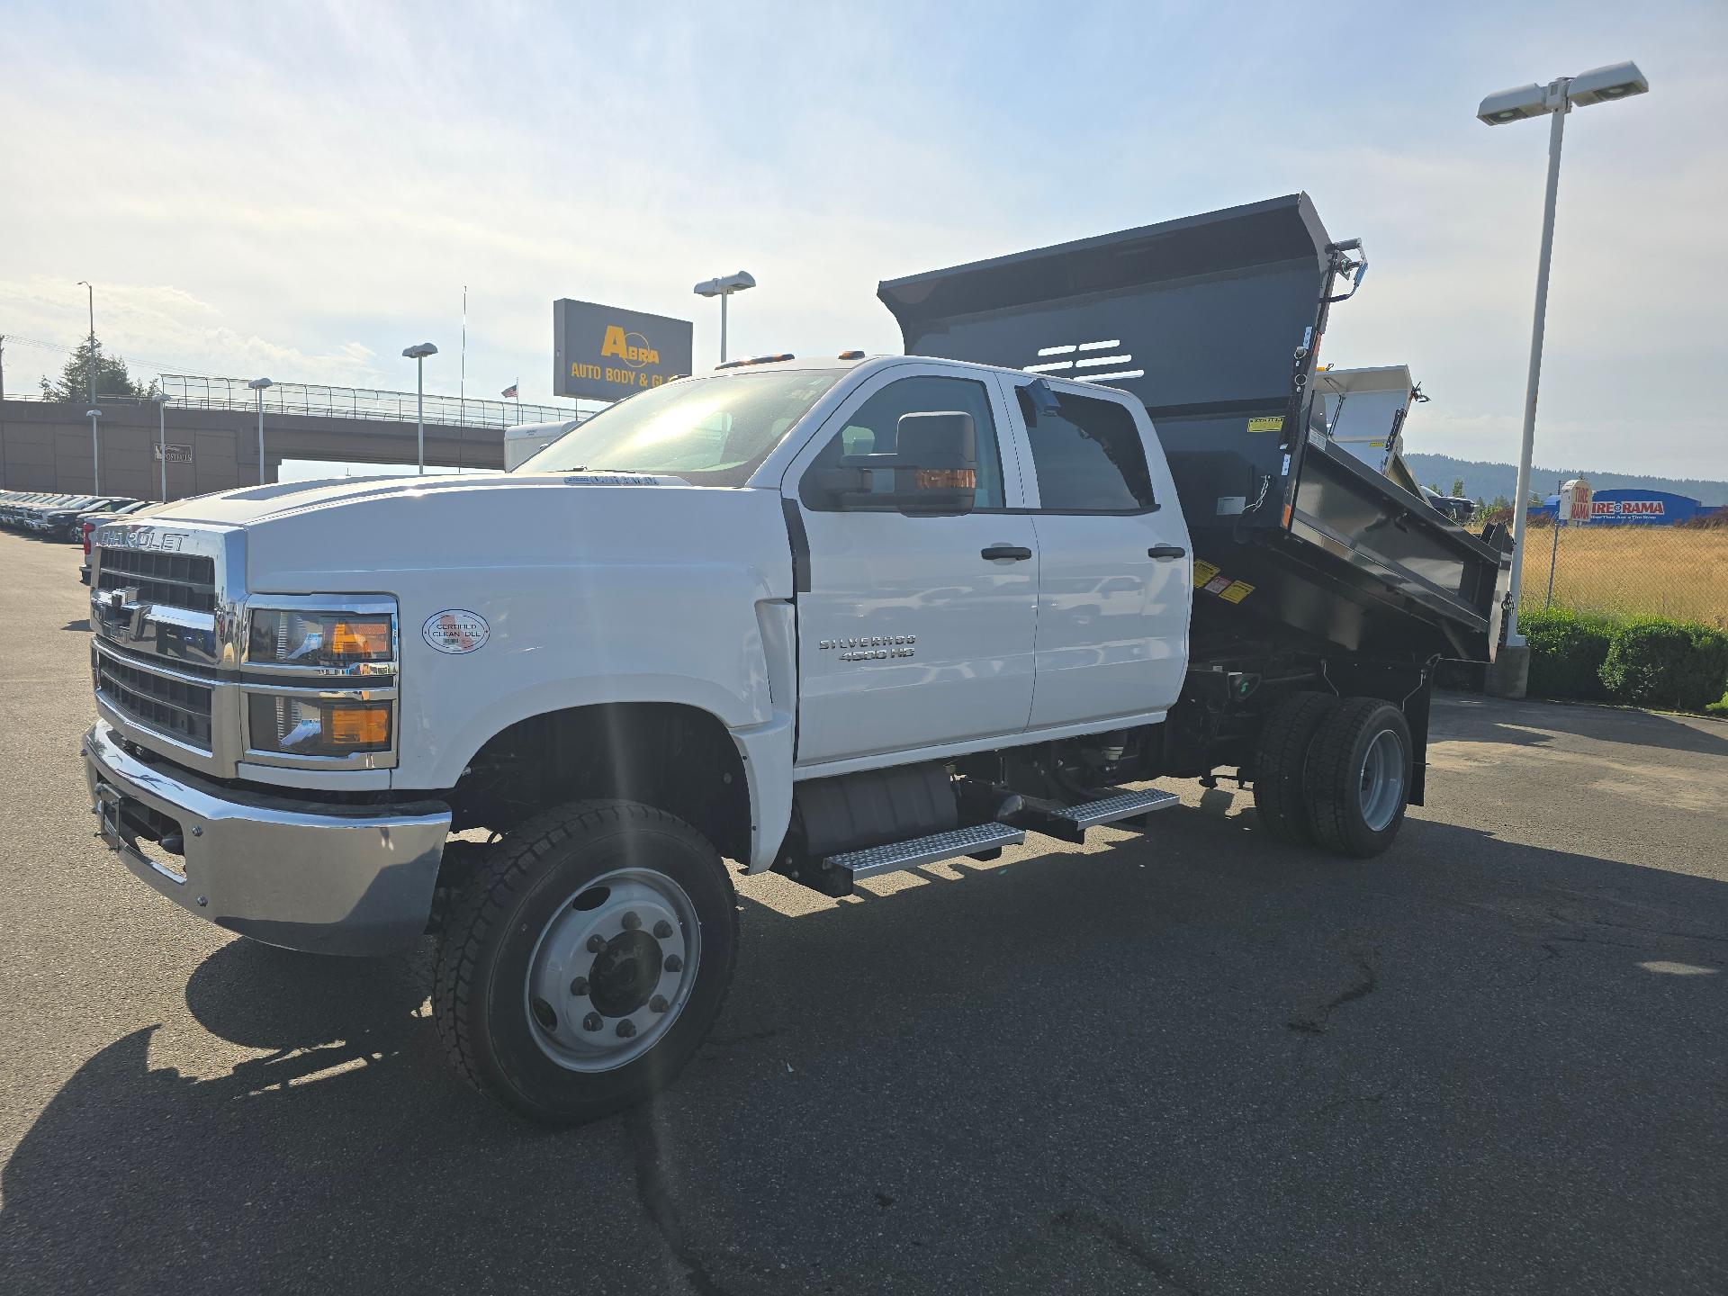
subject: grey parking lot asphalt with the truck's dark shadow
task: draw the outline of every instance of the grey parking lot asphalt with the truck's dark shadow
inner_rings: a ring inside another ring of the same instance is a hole
[[[92,835],[78,551],[0,534],[0,1289],[1721,1293],[1728,726],[1448,696],[1382,859],[1182,790],[741,881],[651,1106],[465,1090],[427,954],[232,938]]]

